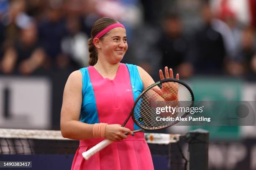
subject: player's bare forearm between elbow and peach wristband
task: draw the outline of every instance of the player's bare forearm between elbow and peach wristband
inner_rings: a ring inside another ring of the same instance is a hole
[[[61,123],[61,134],[64,138],[82,140],[94,138],[92,128],[94,124],[87,124],[77,120]]]

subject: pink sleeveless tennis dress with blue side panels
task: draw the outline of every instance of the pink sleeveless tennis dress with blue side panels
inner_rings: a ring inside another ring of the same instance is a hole
[[[120,63],[113,80],[103,78],[90,66],[80,69],[83,77],[81,122],[122,125],[130,113],[133,103],[143,91],[143,83],[136,65]],[[125,125],[138,129],[132,118]],[[134,133],[128,138],[114,142],[84,160],[82,153],[104,140],[94,138],[80,140],[74,156],[72,170],[154,170],[151,153],[144,133]]]

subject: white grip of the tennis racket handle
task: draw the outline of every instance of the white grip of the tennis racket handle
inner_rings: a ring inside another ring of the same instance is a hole
[[[108,140],[108,139],[102,140],[100,143],[98,143],[97,145],[95,145],[91,149],[89,149],[86,152],[82,153],[84,159],[88,160],[92,155],[94,155],[95,153],[99,152],[100,150],[102,150],[103,148],[108,146],[110,143],[113,143],[113,141],[112,140]]]

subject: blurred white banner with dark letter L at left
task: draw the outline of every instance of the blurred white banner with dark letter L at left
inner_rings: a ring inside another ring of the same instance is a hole
[[[0,77],[0,128],[51,128],[48,78]]]

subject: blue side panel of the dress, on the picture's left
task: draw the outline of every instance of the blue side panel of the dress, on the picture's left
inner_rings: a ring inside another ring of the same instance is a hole
[[[81,122],[88,124],[99,123],[99,116],[96,107],[96,100],[92,83],[90,80],[89,72],[87,67],[81,68],[83,77],[82,87],[82,107],[81,107]]]

